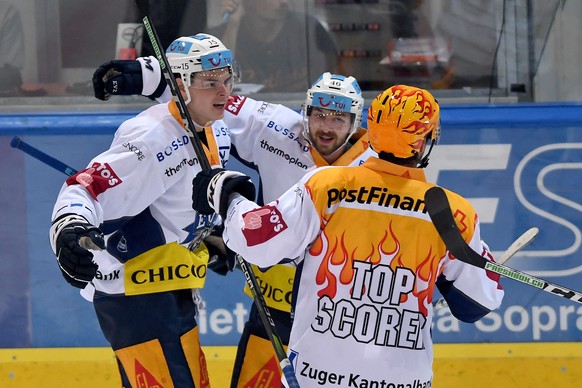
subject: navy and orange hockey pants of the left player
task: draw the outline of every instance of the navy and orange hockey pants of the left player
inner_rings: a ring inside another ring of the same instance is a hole
[[[125,388],[210,386],[190,290],[136,296],[96,292],[93,304]]]

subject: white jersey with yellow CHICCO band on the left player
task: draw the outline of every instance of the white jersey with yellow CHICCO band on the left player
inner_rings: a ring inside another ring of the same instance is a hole
[[[106,250],[94,252],[97,290],[137,295],[203,286],[208,254],[188,246],[200,244],[220,219],[192,209],[192,180],[201,167],[181,123],[174,102],[141,112],[63,185],[52,219],[79,214],[106,237]],[[230,155],[225,123],[214,122],[205,135],[211,166],[224,166]]]

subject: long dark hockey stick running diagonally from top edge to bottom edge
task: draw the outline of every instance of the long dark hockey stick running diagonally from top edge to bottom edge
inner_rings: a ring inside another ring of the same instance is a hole
[[[148,1],[147,0],[136,0],[135,2],[137,4],[137,8],[139,9],[140,13],[142,14],[142,20],[143,20],[145,30],[148,33],[148,37],[150,38],[150,41],[152,43],[153,50],[156,53],[156,57],[158,59],[158,62],[160,62],[160,68],[162,70],[162,73],[164,74],[164,77],[166,78],[166,82],[170,86],[170,90],[172,92],[172,97],[174,98],[174,101],[176,101],[176,105],[178,106],[178,109],[180,110],[180,115],[182,116],[182,120],[184,121],[184,125],[186,127],[186,130],[188,131],[190,139],[192,140],[192,145],[194,146],[194,151],[196,152],[196,156],[198,157],[198,159],[200,161],[200,165],[202,166],[203,170],[210,170],[211,169],[210,163],[208,162],[208,158],[206,157],[206,154],[204,153],[204,150],[202,148],[202,144],[200,143],[200,139],[199,139],[198,135],[196,134],[194,123],[192,122],[192,118],[190,117],[188,109],[186,108],[186,103],[184,101],[184,98],[182,97],[182,94],[180,93],[180,91],[178,89],[178,84],[176,82],[176,79],[174,78],[174,76],[172,74],[170,64],[168,62],[168,58],[166,57],[165,52],[161,48],[160,38],[156,32],[156,29],[155,29],[153,23],[151,22],[151,20],[149,18]],[[237,255],[237,260],[239,262],[241,269],[243,270],[243,273],[245,275],[245,279],[247,280],[249,288],[251,290],[254,289],[254,292],[253,292],[254,300],[257,302],[257,308],[259,309],[259,313],[261,315],[263,325],[265,326],[265,330],[267,331],[267,334],[269,335],[269,338],[271,339],[271,343],[273,344],[273,347],[275,348],[275,352],[277,353],[277,357],[279,358],[279,363],[281,365],[281,369],[283,370],[283,373],[285,374],[285,378],[287,379],[287,383],[289,384],[289,387],[291,387],[291,388],[299,387],[299,384],[297,383],[297,379],[295,378],[295,372],[293,370],[293,366],[291,365],[291,362],[287,358],[287,355],[286,355],[284,350],[283,350],[282,354],[280,352],[280,350],[283,349],[281,337],[279,337],[277,332],[274,330],[275,325],[273,323],[273,320],[272,319],[269,320],[267,318],[267,317],[270,318],[271,315],[269,313],[269,309],[267,307],[267,304],[265,303],[265,300],[263,298],[263,294],[261,293],[260,288],[258,288],[257,278],[255,277],[255,274],[254,274],[252,268],[248,267],[247,263],[245,262],[245,260],[242,256]],[[267,319],[263,319],[263,317],[265,317]],[[283,359],[281,357],[283,357]]]

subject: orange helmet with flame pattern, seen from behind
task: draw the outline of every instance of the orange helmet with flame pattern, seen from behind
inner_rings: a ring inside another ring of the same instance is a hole
[[[379,94],[368,110],[370,146],[426,167],[440,137],[439,105],[427,90],[395,85]],[[426,149],[426,142],[430,147]]]

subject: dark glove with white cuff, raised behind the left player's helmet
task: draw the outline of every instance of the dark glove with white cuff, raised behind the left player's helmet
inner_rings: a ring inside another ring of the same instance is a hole
[[[112,95],[141,94],[154,100],[167,87],[159,62],[152,56],[136,60],[116,59],[93,73],[95,97],[106,101]]]

